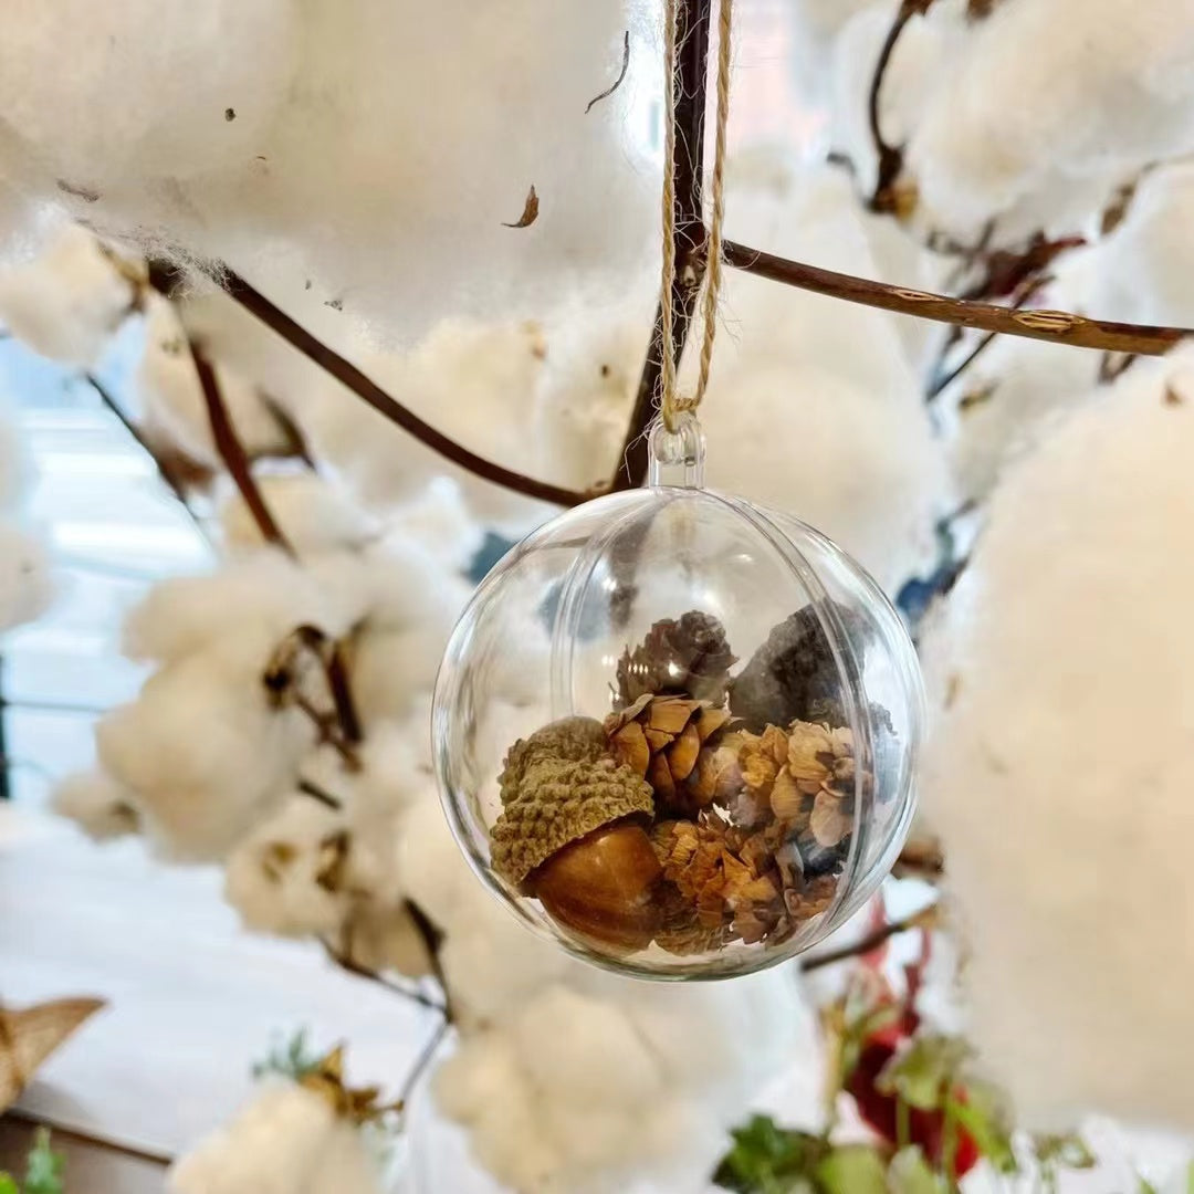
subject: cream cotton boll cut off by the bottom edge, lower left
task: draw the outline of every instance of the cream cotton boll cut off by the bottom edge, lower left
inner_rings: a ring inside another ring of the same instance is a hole
[[[171,1194],[381,1194],[380,1165],[362,1131],[322,1095],[271,1084],[167,1175]]]

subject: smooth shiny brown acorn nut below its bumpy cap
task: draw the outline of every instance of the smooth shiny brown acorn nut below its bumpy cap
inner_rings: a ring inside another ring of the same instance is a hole
[[[620,820],[556,850],[525,886],[554,921],[602,949],[634,953],[659,928],[661,874],[642,825]]]

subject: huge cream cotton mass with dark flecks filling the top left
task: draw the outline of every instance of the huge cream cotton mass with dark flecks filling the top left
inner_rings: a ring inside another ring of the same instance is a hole
[[[656,61],[636,7],[23,0],[0,171],[107,236],[228,260],[392,343],[463,310],[530,315],[620,277],[654,234],[648,97],[632,80],[585,111],[629,26],[632,74]],[[531,186],[537,219],[504,227]]]

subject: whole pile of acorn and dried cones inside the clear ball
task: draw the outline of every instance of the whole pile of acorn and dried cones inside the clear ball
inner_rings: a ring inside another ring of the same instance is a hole
[[[617,953],[775,947],[825,912],[873,777],[816,610],[736,663],[716,618],[659,621],[618,661],[616,712],[515,743],[497,873]]]

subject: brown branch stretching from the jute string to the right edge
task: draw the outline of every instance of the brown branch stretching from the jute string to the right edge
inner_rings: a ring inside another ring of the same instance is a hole
[[[1112,352],[1137,352],[1140,356],[1162,356],[1180,340],[1194,336],[1186,327],[1151,327],[1138,324],[1115,324],[1084,319],[1060,310],[1013,310],[985,302],[968,302],[946,295],[907,287],[888,285],[869,278],[823,270],[783,257],[775,257],[734,241],[725,242],[726,261],[736,269],[758,277],[782,282],[800,290],[839,298],[845,302],[876,307],[916,319],[938,324],[954,324],[981,332],[1022,336],[1052,344],[1069,344],[1078,349],[1102,349]]]

